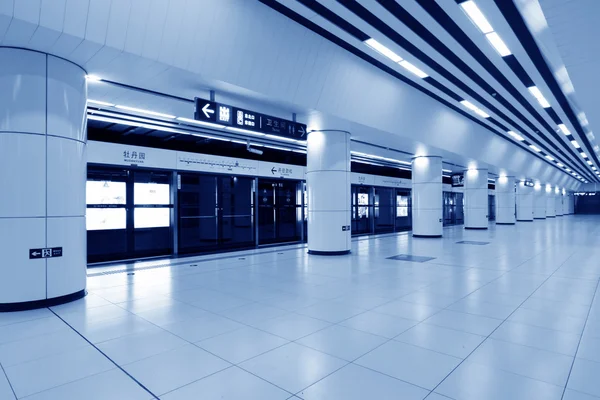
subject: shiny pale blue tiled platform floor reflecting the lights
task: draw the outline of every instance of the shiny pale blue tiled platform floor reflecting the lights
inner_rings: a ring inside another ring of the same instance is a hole
[[[0,314],[0,399],[600,399],[600,218],[352,250],[90,269],[85,299]]]

